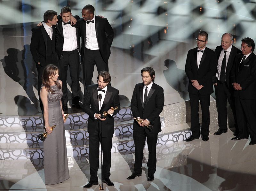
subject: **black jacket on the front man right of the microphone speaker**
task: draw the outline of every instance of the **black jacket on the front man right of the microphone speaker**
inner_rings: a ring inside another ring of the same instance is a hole
[[[141,119],[148,119],[153,129],[149,131],[147,127],[139,126],[138,122],[134,120],[133,131],[144,131],[147,134],[159,133],[161,131],[161,122],[159,114],[164,108],[164,89],[153,82],[149,90],[145,105],[143,104],[143,83],[136,84],[131,100],[131,109],[133,117],[140,117]]]

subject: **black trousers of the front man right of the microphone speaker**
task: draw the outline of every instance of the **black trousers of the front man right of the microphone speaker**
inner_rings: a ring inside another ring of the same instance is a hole
[[[154,174],[156,172],[157,133],[146,134],[145,130],[133,131],[133,140],[135,146],[134,172],[142,172],[143,149],[146,138],[148,143],[148,173]]]

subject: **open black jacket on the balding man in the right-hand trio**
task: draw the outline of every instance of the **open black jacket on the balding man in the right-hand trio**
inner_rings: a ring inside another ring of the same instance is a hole
[[[242,52],[241,50],[239,50],[235,46],[233,46],[233,45],[231,45],[231,46],[232,46],[232,48],[231,48],[231,51],[230,51],[230,54],[229,54],[229,57],[228,57],[228,63],[226,63],[227,67],[226,67],[226,72],[225,72],[225,79],[227,81],[227,84],[228,84],[229,88],[232,88],[232,85],[231,85],[232,82],[230,82],[230,72],[231,72],[231,69],[234,65],[235,57],[236,57],[237,54]],[[219,57],[220,57],[221,50],[222,50],[222,46],[217,46],[216,49],[215,49],[217,65],[218,65],[218,60],[219,60]],[[212,82],[213,83],[217,82],[216,75],[213,76]]]

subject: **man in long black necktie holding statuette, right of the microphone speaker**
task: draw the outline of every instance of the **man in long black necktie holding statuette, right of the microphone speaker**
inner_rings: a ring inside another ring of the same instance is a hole
[[[164,108],[164,89],[154,83],[155,71],[145,67],[141,71],[143,83],[136,84],[131,100],[132,115],[140,118],[141,122],[133,122],[133,140],[135,147],[134,172],[127,179],[141,176],[142,159],[145,141],[148,143],[148,175],[147,180],[154,180],[156,172],[156,142],[157,134],[161,131],[159,114]],[[153,126],[150,130],[148,125]]]

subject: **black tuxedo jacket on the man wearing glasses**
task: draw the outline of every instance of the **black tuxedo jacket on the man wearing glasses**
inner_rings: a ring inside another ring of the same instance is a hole
[[[188,93],[200,95],[209,95],[213,93],[212,76],[216,74],[217,61],[215,52],[205,47],[200,65],[197,68],[197,47],[188,50],[185,72],[188,76]],[[202,89],[197,90],[191,82],[197,80],[199,85],[203,85]]]

